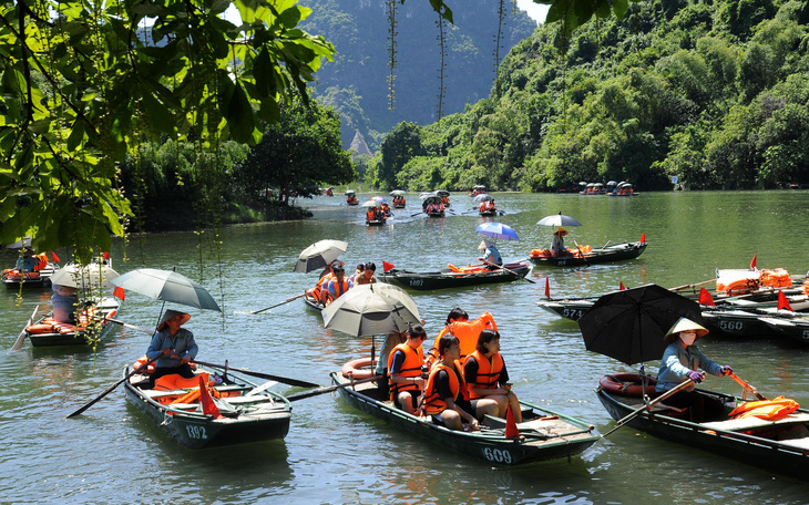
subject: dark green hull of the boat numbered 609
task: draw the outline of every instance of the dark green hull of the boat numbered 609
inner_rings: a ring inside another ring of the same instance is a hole
[[[334,384],[348,382],[337,372],[331,373]],[[523,463],[547,461],[556,458],[570,458],[581,454],[593,445],[598,436],[593,434],[585,423],[566,418],[555,412],[536,408],[526,402],[523,405],[542,411],[549,415],[557,415],[560,423],[565,424],[569,430],[564,433],[552,435],[541,440],[533,437],[524,431],[522,439],[509,439],[503,434],[502,429],[484,429],[479,433],[448,430],[422,418],[410,415],[401,411],[390,402],[382,402],[373,398],[372,392],[378,391],[373,384],[360,384],[357,390],[342,388],[338,390],[340,398],[362,413],[372,415],[391,426],[404,430],[437,445],[467,456],[484,460],[499,465],[518,465]],[[557,424],[560,424],[557,423]]]

